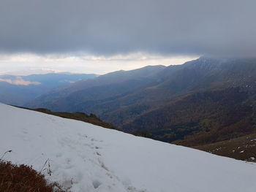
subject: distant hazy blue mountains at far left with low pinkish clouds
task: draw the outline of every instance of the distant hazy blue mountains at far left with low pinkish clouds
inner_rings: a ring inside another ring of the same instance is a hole
[[[95,74],[31,74],[28,76],[0,75],[0,101],[23,106],[42,93],[69,85],[78,80],[96,77]]]

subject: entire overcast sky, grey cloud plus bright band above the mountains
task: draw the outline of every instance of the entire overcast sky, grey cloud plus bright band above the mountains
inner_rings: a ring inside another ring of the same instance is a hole
[[[63,69],[107,72],[200,55],[252,57],[255,7],[255,0],[0,0],[0,70],[61,69],[59,58]]]

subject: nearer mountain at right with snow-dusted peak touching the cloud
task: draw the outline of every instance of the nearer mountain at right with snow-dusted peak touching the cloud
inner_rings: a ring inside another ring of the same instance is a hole
[[[165,142],[184,139],[176,143],[185,146],[256,132],[256,60],[200,58],[184,64],[176,74],[177,82],[165,85],[192,88],[124,123],[124,130],[146,129],[155,139]],[[189,80],[182,85],[182,79],[187,77]]]

